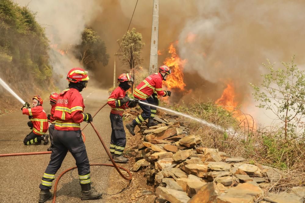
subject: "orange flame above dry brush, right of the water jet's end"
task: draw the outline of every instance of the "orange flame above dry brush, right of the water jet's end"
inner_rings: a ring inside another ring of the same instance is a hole
[[[238,102],[235,100],[235,97],[234,84],[229,82],[222,92],[221,97],[215,103],[232,112],[233,116],[240,122],[240,126],[256,130],[257,126],[253,118],[249,114],[244,114],[241,110],[237,109]]]

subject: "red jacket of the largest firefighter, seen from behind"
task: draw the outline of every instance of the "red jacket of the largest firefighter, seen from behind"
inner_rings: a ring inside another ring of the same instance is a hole
[[[53,117],[55,129],[63,131],[77,131],[81,128],[80,123],[84,120],[84,100],[77,89],[63,90],[56,101]]]

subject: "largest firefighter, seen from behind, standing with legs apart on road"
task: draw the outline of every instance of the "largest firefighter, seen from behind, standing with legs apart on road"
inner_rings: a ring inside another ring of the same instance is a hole
[[[67,75],[69,87],[63,90],[56,101],[53,114],[55,129],[53,132],[53,149],[51,160],[42,177],[39,188],[38,202],[45,202],[52,196],[49,191],[52,181],[59,170],[68,150],[76,161],[79,183],[81,185],[81,200],[97,199],[102,193],[91,188],[90,165],[86,147],[81,137],[81,125],[83,121],[92,121],[92,116],[83,113],[84,101],[80,92],[87,86],[88,72],[82,68],[72,68]]]

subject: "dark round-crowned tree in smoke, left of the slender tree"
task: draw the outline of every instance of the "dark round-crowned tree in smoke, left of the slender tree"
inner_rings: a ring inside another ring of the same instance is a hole
[[[94,30],[85,28],[81,39],[81,44],[75,46],[75,55],[81,64],[91,69],[94,68],[95,62],[101,62],[103,66],[106,66],[109,54],[107,54],[105,42],[99,35]]]

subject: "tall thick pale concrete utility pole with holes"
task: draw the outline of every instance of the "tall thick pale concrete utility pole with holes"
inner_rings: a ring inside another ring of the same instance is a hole
[[[159,0],[153,0],[149,75],[158,72]]]

